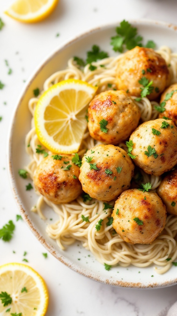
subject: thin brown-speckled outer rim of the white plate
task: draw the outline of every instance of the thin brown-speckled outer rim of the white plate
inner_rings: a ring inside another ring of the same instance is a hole
[[[133,23],[137,26],[140,25],[151,25],[151,26],[160,26],[162,28],[170,28],[174,31],[177,32],[177,26],[172,24],[172,23],[165,23],[165,22],[161,22],[161,21],[153,21],[153,20],[147,20],[147,19],[139,19],[139,20],[128,20],[130,23]],[[47,242],[45,240],[45,238],[39,234],[39,232],[37,231],[37,228],[35,227],[35,225],[33,224],[33,222],[31,221],[31,219],[29,218],[29,216],[26,214],[26,210],[23,206],[23,203],[21,201],[20,195],[17,192],[16,189],[16,183],[15,183],[15,175],[14,175],[14,171],[13,171],[13,167],[12,167],[12,135],[14,132],[14,126],[15,126],[15,119],[16,119],[16,115],[18,112],[18,109],[20,107],[21,101],[23,100],[26,91],[28,90],[29,86],[31,85],[31,83],[33,82],[33,80],[35,79],[35,77],[37,76],[37,74],[43,69],[43,67],[52,59],[54,58],[54,56],[56,54],[58,54],[59,52],[62,52],[63,50],[65,50],[68,46],[70,46],[72,43],[77,42],[78,40],[82,40],[83,38],[87,37],[88,35],[90,35],[91,33],[95,33],[98,32],[100,30],[106,30],[109,27],[116,27],[118,24],[120,23],[120,21],[117,21],[117,23],[111,23],[111,24],[106,24],[106,25],[102,25],[100,27],[96,27],[94,29],[88,30],[85,33],[81,33],[79,35],[77,35],[75,38],[72,38],[71,40],[67,40],[64,43],[62,43],[59,47],[57,47],[54,52],[50,53],[47,58],[45,58],[40,65],[37,67],[36,70],[34,70],[33,74],[31,75],[30,79],[27,81],[24,89],[22,90],[17,102],[16,102],[16,106],[14,107],[14,113],[12,115],[11,118],[11,122],[10,122],[10,127],[9,127],[9,132],[8,132],[8,144],[7,144],[7,163],[8,163],[8,173],[9,173],[9,178],[10,178],[10,184],[12,187],[12,191],[13,191],[13,195],[15,198],[15,201],[19,207],[21,216],[23,218],[23,220],[27,223],[27,225],[29,226],[29,228],[31,229],[31,231],[33,232],[33,234],[36,236],[36,238],[41,242],[41,244],[58,260],[60,260],[60,262],[64,263],[67,267],[71,268],[72,270],[78,272],[79,274],[89,277],[95,281],[99,281],[102,283],[106,283],[106,284],[110,284],[110,285],[114,285],[114,286],[118,286],[118,287],[125,287],[125,288],[161,288],[161,287],[167,287],[167,286],[171,286],[171,285],[175,285],[177,284],[177,278],[174,278],[173,280],[169,280],[166,282],[149,282],[148,285],[143,284],[141,282],[137,282],[137,283],[133,283],[133,282],[123,282],[123,281],[115,281],[115,280],[110,280],[106,277],[101,277],[99,275],[97,275],[96,273],[92,273],[90,271],[88,271],[87,269],[83,269],[82,267],[80,267],[77,264],[74,264],[71,260],[69,260],[68,258],[66,258],[65,256],[56,253],[54,247],[52,245],[49,244],[49,242]]]

